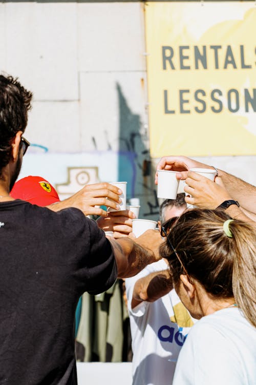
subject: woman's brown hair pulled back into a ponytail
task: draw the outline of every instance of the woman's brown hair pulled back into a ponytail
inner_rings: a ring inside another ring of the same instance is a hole
[[[223,210],[186,211],[168,235],[182,264],[168,242],[160,247],[160,254],[169,262],[174,285],[187,272],[213,297],[234,297],[256,326],[256,230],[233,220],[228,224],[231,237],[227,236],[223,224],[228,219]]]

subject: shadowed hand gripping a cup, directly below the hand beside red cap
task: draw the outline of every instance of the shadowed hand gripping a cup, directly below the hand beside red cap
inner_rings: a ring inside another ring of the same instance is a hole
[[[132,232],[132,219],[135,214],[130,210],[111,211],[108,216],[97,219],[98,226],[105,232],[114,232],[114,238],[127,237]]]

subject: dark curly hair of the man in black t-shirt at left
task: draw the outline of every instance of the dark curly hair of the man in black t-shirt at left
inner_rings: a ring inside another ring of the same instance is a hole
[[[25,131],[32,92],[17,78],[0,75],[0,176],[11,159],[11,141],[18,131]]]

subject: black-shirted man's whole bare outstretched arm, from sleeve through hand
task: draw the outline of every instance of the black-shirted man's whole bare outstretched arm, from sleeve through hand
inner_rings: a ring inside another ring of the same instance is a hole
[[[140,238],[142,237],[142,240]],[[146,246],[142,247],[139,243],[145,244],[144,238],[147,239]],[[144,234],[134,242],[131,238],[109,238],[116,263],[118,278],[133,277],[139,273],[146,265],[158,261],[158,249],[163,242],[158,230],[147,230]]]

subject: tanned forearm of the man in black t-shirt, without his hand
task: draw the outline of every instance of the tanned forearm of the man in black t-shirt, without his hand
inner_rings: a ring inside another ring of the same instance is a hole
[[[138,274],[146,265],[156,262],[159,255],[145,249],[131,238],[109,238],[117,263],[118,278],[129,278]]]

